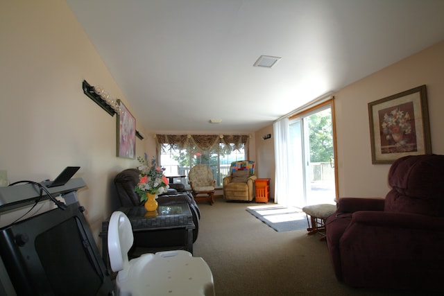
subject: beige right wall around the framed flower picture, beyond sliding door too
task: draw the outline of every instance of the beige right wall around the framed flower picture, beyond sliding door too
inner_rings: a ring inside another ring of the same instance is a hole
[[[375,165],[371,159],[368,103],[379,98],[427,85],[432,153],[444,154],[443,77],[444,42],[441,42],[334,94],[339,197],[383,197],[388,191],[390,165]],[[272,125],[256,132],[257,139],[270,131],[273,134]],[[257,166],[271,173],[275,162],[273,157],[264,156],[264,150],[269,149],[265,142],[257,142]]]

